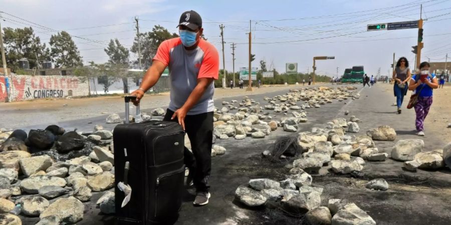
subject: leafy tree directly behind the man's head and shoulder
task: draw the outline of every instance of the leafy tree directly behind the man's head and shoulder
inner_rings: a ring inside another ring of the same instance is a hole
[[[131,52],[138,54],[138,38],[141,42],[141,61],[144,68],[152,64],[152,58],[155,56],[158,46],[164,40],[177,37],[177,33],[170,33],[166,28],[160,25],[155,25],[152,31],[140,33],[135,37]],[[134,62],[135,64],[137,62]]]

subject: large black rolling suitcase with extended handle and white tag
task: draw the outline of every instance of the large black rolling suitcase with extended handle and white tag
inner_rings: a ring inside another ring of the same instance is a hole
[[[133,97],[125,96],[126,123],[113,131],[116,224],[169,223],[182,202],[184,131],[171,121],[128,123]]]

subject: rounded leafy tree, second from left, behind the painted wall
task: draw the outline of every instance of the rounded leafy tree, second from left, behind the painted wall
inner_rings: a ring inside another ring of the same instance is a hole
[[[50,37],[52,61],[55,67],[77,67],[83,65],[82,57],[71,35],[66,31]]]

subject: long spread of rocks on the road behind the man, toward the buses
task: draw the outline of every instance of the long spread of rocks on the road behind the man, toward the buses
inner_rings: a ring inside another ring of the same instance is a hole
[[[222,101],[222,108],[214,109],[214,135],[219,139],[234,137],[242,140],[246,137],[264,138],[278,127],[283,127],[287,132],[296,132],[300,128],[299,123],[308,121],[306,109],[332,103],[332,99],[344,100],[356,96],[348,88],[319,87],[292,89],[284,95],[265,97],[268,103],[264,107],[248,96],[239,103],[240,107],[235,105],[238,102],[236,100]],[[298,105],[300,101],[303,103]],[[234,114],[233,110],[238,111]],[[271,116],[271,112],[280,112],[286,116],[272,120],[276,115]],[[350,121],[349,132],[359,132],[358,121],[355,117]]]

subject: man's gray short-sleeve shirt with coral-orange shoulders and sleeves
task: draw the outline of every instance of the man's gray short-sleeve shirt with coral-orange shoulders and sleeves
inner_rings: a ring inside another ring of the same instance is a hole
[[[198,78],[218,78],[219,54],[211,43],[203,39],[200,39],[193,50],[186,50],[180,37],[165,40],[158,47],[153,60],[158,60],[169,67],[171,90],[168,108],[172,111],[183,106],[197,85]],[[214,83],[211,82],[187,114],[195,115],[213,111],[213,93]]]

